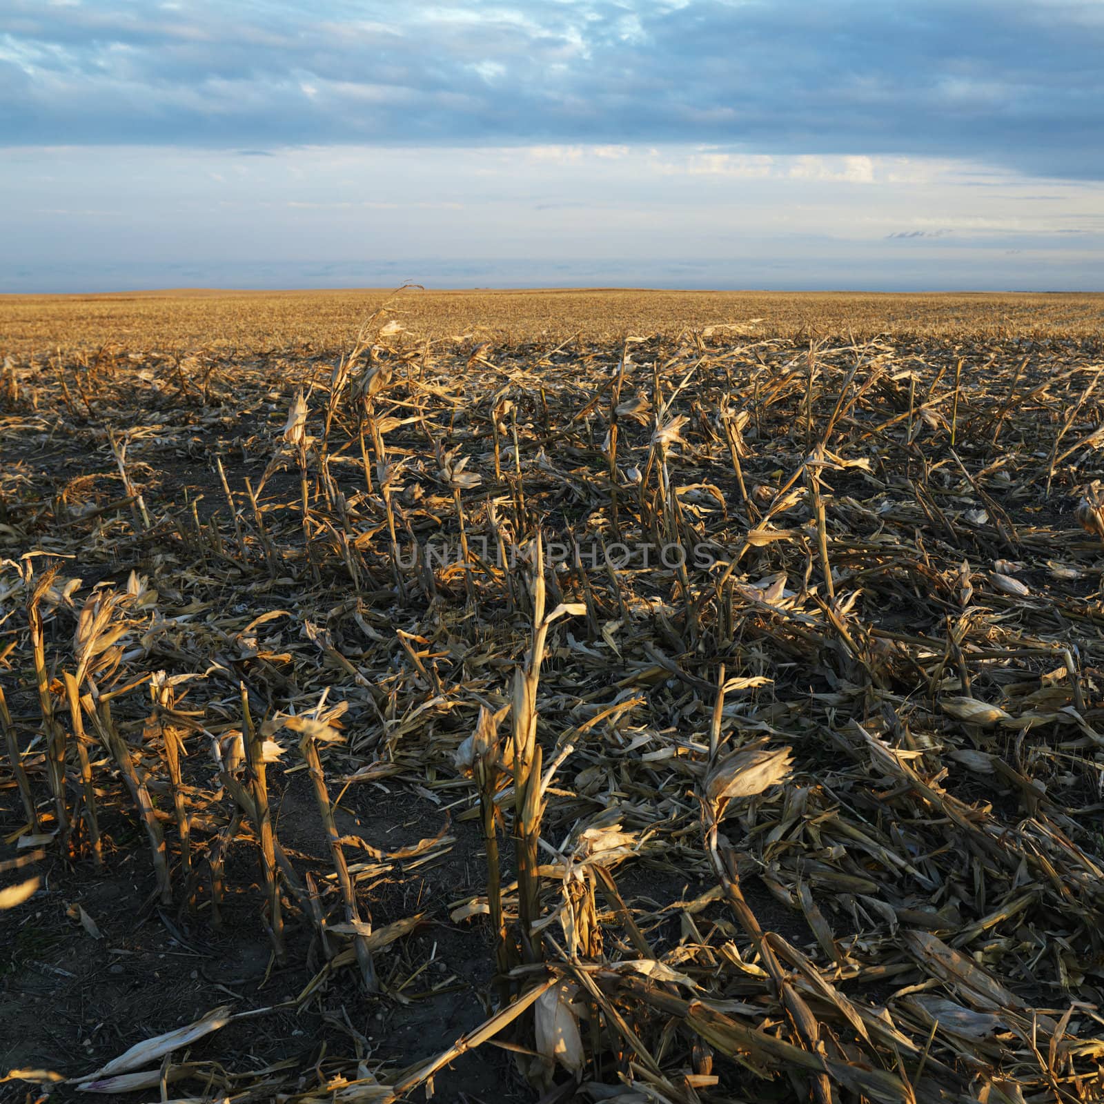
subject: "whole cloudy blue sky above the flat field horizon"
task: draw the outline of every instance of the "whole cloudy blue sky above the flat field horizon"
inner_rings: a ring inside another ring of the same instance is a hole
[[[1104,0],[0,0],[0,291],[1104,290]]]

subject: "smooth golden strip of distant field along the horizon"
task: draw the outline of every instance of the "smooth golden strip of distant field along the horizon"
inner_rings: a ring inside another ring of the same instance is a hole
[[[612,339],[739,326],[756,337],[880,333],[972,338],[1087,338],[1104,331],[1102,294],[916,294],[652,290],[323,291],[167,290],[0,296],[0,353],[63,349],[238,352],[348,348],[384,302],[414,333],[442,340]],[[754,321],[753,321],[754,320]]]

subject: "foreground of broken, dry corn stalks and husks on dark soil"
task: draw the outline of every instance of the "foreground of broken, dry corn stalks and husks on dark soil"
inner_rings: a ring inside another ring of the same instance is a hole
[[[1098,335],[756,326],[13,347],[12,1100],[1104,1098]]]

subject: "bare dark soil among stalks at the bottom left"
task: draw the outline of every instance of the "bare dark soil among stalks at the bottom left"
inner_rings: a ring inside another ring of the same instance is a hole
[[[418,797],[389,800],[381,816],[373,796],[353,792],[343,818],[350,831],[362,832],[370,842],[394,849],[440,830],[444,817],[434,803]],[[357,818],[358,807],[372,810],[367,821],[371,827]],[[321,869],[325,837],[301,774],[286,787],[274,788],[273,810],[285,847],[304,867]],[[20,815],[6,800],[6,835],[18,827]],[[327,1048],[342,1050],[351,1043],[363,1047],[364,1058],[402,1069],[447,1049],[487,1018],[489,940],[486,933],[480,936],[478,920],[461,930],[445,909],[446,902],[479,889],[479,832],[470,824],[454,826],[459,838],[445,859],[365,888],[378,925],[425,913],[424,924],[402,953],[385,963],[392,996],[369,998],[355,984],[342,985],[327,1007],[298,1013],[295,1000],[314,974],[306,965],[310,933],[289,924],[290,965],[274,965],[257,921],[255,847],[240,840],[231,848],[226,877],[234,892],[224,905],[221,930],[212,931],[202,917],[157,904],[145,856],[130,850],[141,832],[137,824],[119,816],[103,827],[109,849],[105,873],[61,860],[39,863],[44,890],[35,895],[33,909],[0,914],[4,1070],[82,1074],[227,999],[237,1012],[273,1010],[231,1023],[192,1048],[191,1058],[216,1058],[240,1072],[276,1062],[309,1070]],[[4,858],[12,853],[4,849]],[[71,919],[75,906],[92,919],[98,937]],[[533,1098],[513,1074],[508,1055],[487,1049],[458,1059],[437,1083],[435,1098],[445,1101]],[[21,1101],[23,1092],[0,1089],[4,1100]],[[55,1098],[88,1097],[63,1086]]]

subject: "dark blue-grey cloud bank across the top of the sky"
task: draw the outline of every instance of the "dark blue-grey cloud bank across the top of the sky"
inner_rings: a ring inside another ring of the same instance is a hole
[[[1102,56],[1096,0],[0,0],[0,144],[678,141],[1104,179]]]

